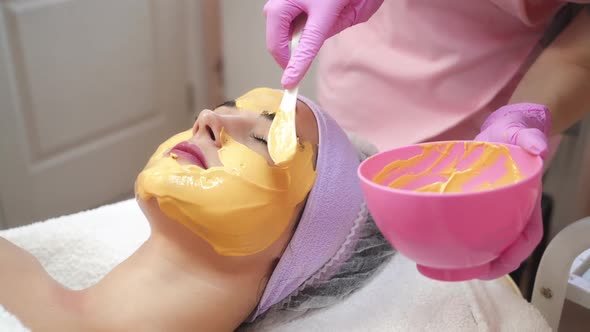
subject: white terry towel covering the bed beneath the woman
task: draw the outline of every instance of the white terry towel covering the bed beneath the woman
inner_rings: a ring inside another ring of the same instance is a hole
[[[134,200],[0,232],[72,289],[96,283],[149,235]],[[442,283],[396,255],[347,300],[273,331],[550,331],[505,280]],[[26,331],[0,306],[0,331]]]

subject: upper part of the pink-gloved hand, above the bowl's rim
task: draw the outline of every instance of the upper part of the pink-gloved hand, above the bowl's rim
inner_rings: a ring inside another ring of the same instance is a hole
[[[551,113],[538,104],[512,104],[492,113],[481,127],[476,141],[518,145],[528,152],[547,156]]]

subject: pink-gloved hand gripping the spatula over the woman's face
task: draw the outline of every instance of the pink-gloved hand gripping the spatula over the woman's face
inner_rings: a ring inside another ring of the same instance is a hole
[[[275,61],[285,69],[281,83],[295,87],[309,69],[324,41],[340,31],[366,22],[383,0],[269,0],[266,16],[266,47]],[[307,14],[299,46],[290,58],[289,41],[292,23]]]

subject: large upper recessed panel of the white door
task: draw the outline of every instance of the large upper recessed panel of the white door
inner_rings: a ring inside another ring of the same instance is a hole
[[[33,160],[154,115],[147,1],[36,4],[7,10]]]

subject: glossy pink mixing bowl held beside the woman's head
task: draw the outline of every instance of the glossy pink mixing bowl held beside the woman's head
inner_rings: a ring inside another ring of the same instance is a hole
[[[456,168],[463,170],[473,164],[484,147],[465,157],[466,144],[474,142],[436,142],[453,145],[448,156],[436,166],[448,167],[459,159]],[[423,275],[437,280],[462,281],[481,277],[489,271],[489,263],[516,240],[528,221],[541,194],[543,161],[520,147],[506,145],[522,179],[494,189],[475,191],[484,181],[497,180],[505,172],[506,158],[500,158],[481,169],[480,175],[465,183],[460,193],[424,193],[413,189],[441,181],[440,176],[420,177],[403,189],[375,183],[373,177],[396,160],[420,155],[423,145],[412,145],[378,153],[359,167],[367,206],[387,240],[400,253],[417,263]],[[442,149],[441,149],[442,150]],[[386,183],[403,174],[419,173],[439,158],[440,151],[424,158]]]

